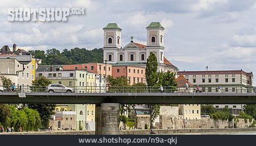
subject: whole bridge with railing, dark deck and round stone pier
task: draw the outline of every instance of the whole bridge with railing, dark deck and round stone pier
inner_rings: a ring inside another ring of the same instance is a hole
[[[71,93],[67,88],[53,93],[48,93],[46,87],[13,91],[6,88],[0,93],[0,103],[97,104],[96,134],[119,134],[119,104],[256,104],[255,91],[242,87],[212,87],[208,91],[177,87],[75,87]]]

